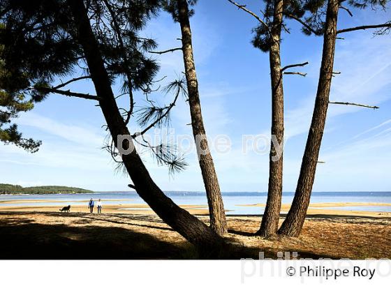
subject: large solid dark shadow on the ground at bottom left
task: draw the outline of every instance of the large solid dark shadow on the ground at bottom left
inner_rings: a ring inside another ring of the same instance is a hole
[[[1,221],[1,259],[161,259],[183,249],[121,227],[15,225]]]

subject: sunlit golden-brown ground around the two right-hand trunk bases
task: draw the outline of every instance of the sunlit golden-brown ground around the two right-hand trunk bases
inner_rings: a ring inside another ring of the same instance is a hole
[[[228,226],[236,233],[235,239],[244,241],[245,246],[271,253],[297,251],[302,257],[391,258],[390,218],[310,216],[297,238],[244,237],[258,230],[257,218],[233,217],[228,220]]]

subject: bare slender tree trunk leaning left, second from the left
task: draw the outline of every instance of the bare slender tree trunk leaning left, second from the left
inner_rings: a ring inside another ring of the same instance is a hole
[[[205,128],[202,120],[200,95],[198,93],[198,80],[195,73],[193,57],[193,44],[191,42],[191,29],[189,21],[189,6],[186,0],[178,0],[179,24],[182,31],[182,52],[184,57],[184,68],[186,74],[187,89],[189,93],[189,106],[191,114],[191,126],[193,136],[197,144],[198,159],[204,180],[207,200],[209,205],[210,225],[219,235],[225,235],[227,231],[226,213],[224,211],[223,199],[219,181],[212,155],[209,151]],[[202,153],[201,153],[202,152]]]

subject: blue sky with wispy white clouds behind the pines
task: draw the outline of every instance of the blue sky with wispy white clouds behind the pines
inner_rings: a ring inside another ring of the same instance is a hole
[[[243,2],[244,3],[244,2]],[[257,11],[260,1],[246,1]],[[339,28],[380,24],[391,13],[353,10],[354,17],[340,11]],[[266,191],[268,154],[242,152],[243,135],[270,135],[270,77],[268,55],[251,45],[256,20],[226,0],[200,0],[191,19],[195,62],[205,127],[210,137],[228,135],[228,153],[215,153],[214,162],[221,189]],[[284,77],[286,145],[284,191],[294,191],[300,171],[318,82],[322,38],[300,33],[289,22],[283,35],[283,65],[309,61],[300,68],[307,77]],[[158,40],[159,50],[178,46],[178,24],[161,13],[149,23],[146,36]],[[391,191],[391,38],[373,37],[371,31],[344,34],[337,43],[330,100],[378,105],[379,110],[331,105],[320,150],[314,191]],[[183,68],[179,52],[156,56],[160,75],[173,80]],[[74,91],[94,93],[89,82],[73,84]],[[118,91],[115,86],[115,91]],[[138,97],[138,103],[142,99]],[[156,100],[168,103],[169,96]],[[101,150],[105,131],[103,116],[89,100],[52,95],[17,119],[25,136],[43,141],[38,153],[15,146],[0,146],[2,183],[22,186],[66,185],[91,190],[128,190],[129,179],[115,174],[110,156]],[[189,107],[181,100],[172,111],[171,128],[191,135]],[[131,126],[134,130],[134,125]],[[189,167],[174,177],[143,154],[149,172],[163,190],[204,190],[195,153],[186,156]]]

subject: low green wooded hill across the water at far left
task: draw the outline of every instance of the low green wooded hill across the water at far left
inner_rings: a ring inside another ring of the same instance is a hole
[[[84,190],[82,188],[73,188],[66,186],[36,186],[23,188],[19,185],[10,185],[8,183],[0,183],[0,195],[45,195],[45,194],[87,194],[94,193],[92,190]]]

